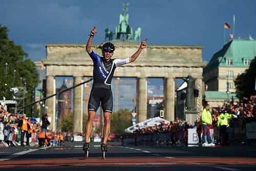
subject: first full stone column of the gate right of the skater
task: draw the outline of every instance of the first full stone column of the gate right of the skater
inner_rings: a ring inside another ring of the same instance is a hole
[[[138,99],[138,114],[137,122],[146,120],[146,107],[147,107],[147,78],[137,78],[137,99]]]

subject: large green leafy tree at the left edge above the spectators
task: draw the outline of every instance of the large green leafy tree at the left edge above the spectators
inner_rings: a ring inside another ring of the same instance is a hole
[[[39,83],[36,66],[28,58],[20,45],[15,45],[9,40],[8,28],[0,25],[0,97],[5,96],[7,100],[13,99],[13,87],[19,90],[25,88],[26,82],[26,104],[32,102],[33,87]],[[22,79],[21,79],[22,78]],[[23,103],[19,103],[22,106]],[[19,107],[18,106],[18,107]],[[31,116],[31,108],[25,109],[27,116]]]

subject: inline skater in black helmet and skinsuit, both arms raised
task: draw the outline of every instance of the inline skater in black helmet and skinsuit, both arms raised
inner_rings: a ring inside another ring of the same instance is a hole
[[[96,35],[97,30],[94,26],[89,34],[89,39],[86,45],[86,51],[93,60],[93,87],[88,101],[88,121],[86,123],[85,138],[83,144],[83,151],[85,151],[84,158],[89,155],[89,137],[92,131],[93,120],[96,116],[96,111],[101,107],[104,116],[103,127],[103,142],[101,144],[102,158],[105,158],[105,152],[108,151],[106,141],[110,133],[110,119],[113,109],[113,97],[111,91],[111,80],[114,75],[116,67],[131,63],[137,59],[141,51],[146,47],[146,40],[141,42],[139,49],[130,58],[115,58],[112,56],[115,51],[115,46],[111,42],[106,42],[102,46],[102,57],[94,53],[91,49],[93,37]]]

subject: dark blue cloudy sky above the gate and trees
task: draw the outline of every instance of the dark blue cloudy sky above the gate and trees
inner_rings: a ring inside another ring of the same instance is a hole
[[[93,44],[101,44],[104,28],[118,25],[122,3],[130,3],[129,25],[142,28],[148,45],[203,46],[204,61],[223,47],[225,22],[231,26],[225,39],[232,34],[233,15],[234,38],[256,38],[255,0],[0,0],[0,24],[32,61],[40,61],[45,44],[86,44],[94,26]]]

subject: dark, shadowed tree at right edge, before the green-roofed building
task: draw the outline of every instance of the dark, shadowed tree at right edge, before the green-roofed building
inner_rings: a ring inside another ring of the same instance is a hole
[[[234,80],[236,94],[239,98],[250,97],[255,95],[255,78],[256,78],[256,56],[250,63],[250,67],[243,74],[238,75]]]

